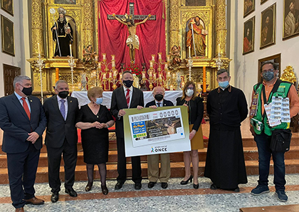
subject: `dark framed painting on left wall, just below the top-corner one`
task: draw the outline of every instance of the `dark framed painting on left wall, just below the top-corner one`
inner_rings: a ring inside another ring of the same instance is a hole
[[[4,30],[5,29],[5,30]],[[1,15],[2,52],[14,56],[14,22]],[[8,31],[9,33],[6,33]],[[12,32],[10,34],[10,32]]]

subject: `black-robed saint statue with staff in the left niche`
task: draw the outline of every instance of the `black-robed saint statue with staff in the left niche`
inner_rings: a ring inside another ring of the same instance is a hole
[[[58,8],[59,18],[51,28],[53,41],[56,42],[54,56],[70,55],[70,44],[73,43],[73,29],[65,19],[65,9]]]

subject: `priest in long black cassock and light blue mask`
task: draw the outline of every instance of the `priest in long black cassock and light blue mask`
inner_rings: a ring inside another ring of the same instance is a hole
[[[213,190],[239,192],[238,184],[247,183],[240,126],[248,108],[243,91],[229,85],[230,80],[228,70],[220,69],[219,88],[208,95],[210,134],[204,176],[211,179]]]

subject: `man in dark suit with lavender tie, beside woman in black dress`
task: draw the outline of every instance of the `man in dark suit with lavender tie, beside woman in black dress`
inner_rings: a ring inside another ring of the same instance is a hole
[[[78,142],[75,119],[79,110],[77,98],[68,96],[68,83],[65,80],[56,82],[55,92],[56,95],[43,104],[48,120],[45,144],[48,152],[48,179],[53,203],[58,201],[59,191],[61,191],[59,179],[61,154],[64,161],[65,193],[73,197],[77,196],[73,184]]]

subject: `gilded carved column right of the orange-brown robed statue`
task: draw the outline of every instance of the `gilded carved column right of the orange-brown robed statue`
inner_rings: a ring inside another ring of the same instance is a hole
[[[226,57],[226,0],[216,0],[216,43],[215,53],[218,55],[218,44],[222,57]]]

